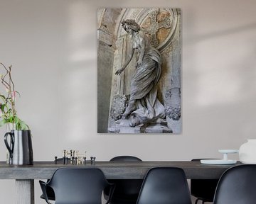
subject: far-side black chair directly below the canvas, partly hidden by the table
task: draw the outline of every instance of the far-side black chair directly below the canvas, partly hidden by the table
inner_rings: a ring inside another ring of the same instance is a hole
[[[142,162],[142,159],[134,156],[117,156],[110,159],[110,162]],[[112,179],[108,180],[114,183],[114,193],[111,204],[135,204],[139,196],[139,191],[142,186],[142,179]],[[105,198],[109,196],[109,188],[104,191]]]

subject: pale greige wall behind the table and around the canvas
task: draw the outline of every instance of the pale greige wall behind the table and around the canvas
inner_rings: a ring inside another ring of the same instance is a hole
[[[114,6],[181,8],[181,135],[96,133],[97,8]],[[63,149],[87,150],[97,160],[222,157],[218,149],[255,138],[255,7],[253,0],[1,0],[0,61],[13,65],[34,160],[60,157]],[[0,131],[4,137],[5,128]],[[5,157],[3,138],[0,160]],[[36,203],[43,203],[38,181],[35,186]],[[0,181],[1,203],[14,203],[13,188],[14,181]]]

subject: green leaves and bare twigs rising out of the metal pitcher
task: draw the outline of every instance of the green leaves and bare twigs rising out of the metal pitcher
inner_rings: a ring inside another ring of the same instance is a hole
[[[6,67],[1,62],[0,65],[4,69],[3,74],[0,74],[0,80],[6,90],[5,93],[0,92],[0,127],[5,124],[13,124],[14,127],[11,129],[29,130],[28,125],[17,115],[15,103],[16,97],[20,96],[20,94],[16,91],[14,81],[11,77],[11,66]]]

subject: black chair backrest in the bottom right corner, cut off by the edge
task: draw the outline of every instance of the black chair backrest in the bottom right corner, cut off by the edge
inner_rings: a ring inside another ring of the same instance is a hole
[[[256,165],[234,166],[220,177],[215,204],[255,204],[256,203]]]

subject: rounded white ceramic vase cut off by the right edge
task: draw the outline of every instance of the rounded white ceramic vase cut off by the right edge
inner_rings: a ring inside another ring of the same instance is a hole
[[[240,146],[239,160],[243,164],[256,164],[256,139],[247,140]]]

